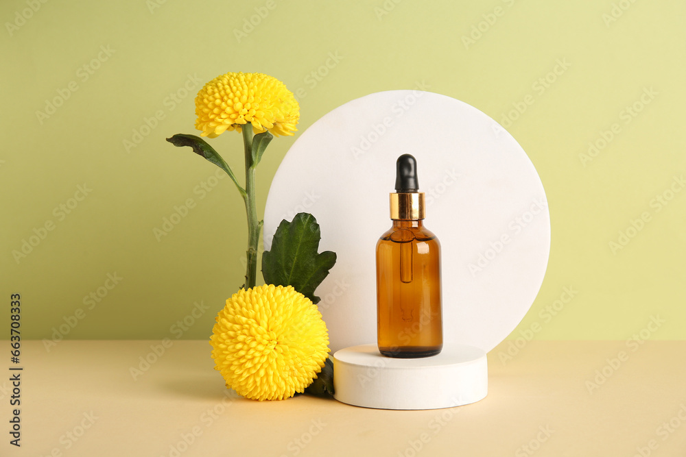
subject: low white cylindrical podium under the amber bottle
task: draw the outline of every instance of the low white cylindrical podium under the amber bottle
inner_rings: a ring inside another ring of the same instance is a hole
[[[488,393],[486,352],[467,345],[437,356],[390,358],[377,345],[333,354],[334,397],[365,408],[425,410],[478,402]]]

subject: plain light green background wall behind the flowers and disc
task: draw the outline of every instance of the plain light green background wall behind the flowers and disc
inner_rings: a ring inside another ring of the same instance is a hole
[[[198,134],[193,98],[228,71],[285,82],[300,132],[418,83],[486,112],[538,169],[552,221],[545,281],[510,337],[624,340],[657,317],[650,338],[686,338],[683,1],[5,0],[0,18],[0,297],[21,293],[26,338],[74,319],[67,338],[209,337],[244,275],[244,206],[165,138]],[[260,213],[293,141],[265,153]],[[239,134],[213,145],[242,169]]]

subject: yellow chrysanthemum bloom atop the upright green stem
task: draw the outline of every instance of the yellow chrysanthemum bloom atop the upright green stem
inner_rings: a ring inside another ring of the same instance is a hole
[[[263,73],[226,73],[205,84],[196,96],[196,129],[215,138],[226,130],[241,132],[251,123],[254,132],[292,135],[300,118],[293,92]]]

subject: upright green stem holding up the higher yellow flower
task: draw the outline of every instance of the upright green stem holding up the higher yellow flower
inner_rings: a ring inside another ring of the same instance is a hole
[[[246,214],[248,214],[248,266],[246,268],[246,290],[255,287],[257,279],[257,245],[262,230],[262,222],[257,221],[257,206],[255,203],[255,166],[252,164],[252,124],[243,125],[243,144],[246,153]]]

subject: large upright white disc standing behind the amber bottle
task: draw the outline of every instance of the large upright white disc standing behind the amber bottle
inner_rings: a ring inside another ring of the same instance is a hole
[[[282,219],[314,214],[320,251],[338,255],[316,291],[331,350],[375,342],[375,247],[391,226],[388,194],[403,153],[417,159],[424,224],[441,243],[445,347],[490,351],[539,291],[550,221],[526,153],[493,119],[462,101],[419,90],[377,92],[312,124],[274,176],[265,249]]]

